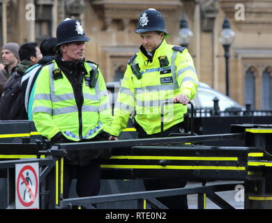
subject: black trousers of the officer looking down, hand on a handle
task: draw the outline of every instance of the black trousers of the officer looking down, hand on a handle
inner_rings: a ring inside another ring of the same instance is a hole
[[[135,123],[135,128],[138,132],[138,138],[158,138],[158,137],[168,137],[170,133],[180,133],[182,128],[181,123],[172,126],[163,133],[157,134],[146,134],[144,129],[137,123]],[[144,187],[146,190],[165,190],[173,188],[181,188],[186,186],[186,180],[169,178],[169,179],[145,179]],[[187,195],[179,195],[174,197],[160,197],[158,201],[163,203],[170,209],[188,209]]]

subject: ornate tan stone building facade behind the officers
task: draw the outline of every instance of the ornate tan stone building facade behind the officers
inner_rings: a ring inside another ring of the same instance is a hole
[[[180,45],[186,16],[193,36],[188,45],[201,82],[225,93],[224,49],[218,41],[229,18],[236,33],[230,47],[229,96],[255,109],[272,109],[272,0],[0,0],[0,46],[40,43],[55,36],[66,17],[80,20],[90,42],[86,59],[99,63],[106,82],[119,80],[139,49],[139,14],[156,8],[165,15],[167,43]]]

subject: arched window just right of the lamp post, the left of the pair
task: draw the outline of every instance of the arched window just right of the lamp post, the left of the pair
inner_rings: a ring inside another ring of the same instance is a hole
[[[245,72],[245,89],[244,99],[245,104],[250,104],[251,109],[255,109],[255,69],[253,67],[248,68]]]

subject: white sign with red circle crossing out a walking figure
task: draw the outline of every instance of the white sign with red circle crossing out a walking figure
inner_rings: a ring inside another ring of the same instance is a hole
[[[39,208],[38,163],[16,164],[15,190],[16,209]]]

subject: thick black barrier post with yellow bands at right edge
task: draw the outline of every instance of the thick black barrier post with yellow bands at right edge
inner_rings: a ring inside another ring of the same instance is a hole
[[[264,153],[248,156],[245,179],[245,209],[272,208],[272,125],[240,125],[245,131],[245,146],[261,148]],[[254,160],[250,158],[254,157]],[[259,158],[259,160],[258,160]]]

